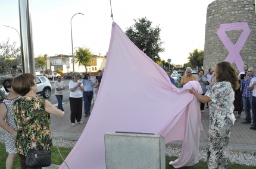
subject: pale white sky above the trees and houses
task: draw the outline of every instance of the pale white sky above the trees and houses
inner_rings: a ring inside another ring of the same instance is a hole
[[[173,64],[188,62],[189,52],[204,49],[207,6],[213,0],[111,0],[114,22],[123,31],[146,17],[159,25],[165,52],[161,59]],[[109,0],[31,0],[34,55],[71,55],[73,47],[88,47],[93,54],[108,52],[113,23]],[[0,43],[20,46],[18,0],[0,0]],[[8,25],[10,27],[4,27]]]

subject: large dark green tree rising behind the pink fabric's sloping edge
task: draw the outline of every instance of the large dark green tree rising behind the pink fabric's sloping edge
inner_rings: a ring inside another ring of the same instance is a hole
[[[164,42],[161,42],[160,39],[159,25],[155,28],[152,27],[152,22],[146,17],[134,21],[135,24],[127,28],[126,35],[154,62],[161,61],[159,53],[164,52],[164,48],[161,47]]]

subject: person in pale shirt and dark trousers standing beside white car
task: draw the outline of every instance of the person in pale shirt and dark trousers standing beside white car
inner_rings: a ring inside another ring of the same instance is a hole
[[[61,81],[61,76],[57,76],[57,81],[54,83],[54,88],[55,88],[55,96],[58,100],[58,109],[63,111],[63,90],[65,89],[65,84],[63,81]]]

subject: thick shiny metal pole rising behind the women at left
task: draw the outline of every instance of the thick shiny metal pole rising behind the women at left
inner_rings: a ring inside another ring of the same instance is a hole
[[[23,73],[35,74],[35,58],[30,17],[30,0],[18,1],[20,12],[21,57]]]

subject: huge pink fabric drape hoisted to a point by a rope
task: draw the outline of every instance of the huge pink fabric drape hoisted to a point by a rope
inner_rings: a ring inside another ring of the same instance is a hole
[[[68,157],[71,168],[105,168],[104,134],[142,132],[183,141],[176,168],[198,162],[201,113],[187,89],[202,93],[198,82],[183,90],[113,23],[107,62],[90,119]],[[67,168],[63,163],[60,168]]]

